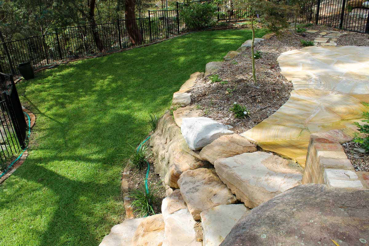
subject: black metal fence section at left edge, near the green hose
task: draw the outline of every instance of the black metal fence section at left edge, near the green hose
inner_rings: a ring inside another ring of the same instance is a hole
[[[27,124],[13,76],[0,73],[0,174],[26,146]]]

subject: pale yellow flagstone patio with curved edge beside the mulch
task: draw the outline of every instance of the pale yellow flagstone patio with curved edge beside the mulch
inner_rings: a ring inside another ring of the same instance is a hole
[[[311,133],[344,129],[352,134],[369,101],[369,47],[310,46],[282,53],[282,74],[292,81],[289,100],[241,134],[268,151],[305,166]]]

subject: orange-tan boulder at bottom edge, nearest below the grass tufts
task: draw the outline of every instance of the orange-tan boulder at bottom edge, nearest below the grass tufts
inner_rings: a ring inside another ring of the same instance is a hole
[[[162,246],[164,220],[162,214],[144,218],[132,238],[132,246]]]

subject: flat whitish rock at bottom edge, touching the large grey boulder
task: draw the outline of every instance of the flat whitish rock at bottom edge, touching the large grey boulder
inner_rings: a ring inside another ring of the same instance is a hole
[[[201,212],[204,246],[218,246],[250,209],[244,204],[219,205]]]

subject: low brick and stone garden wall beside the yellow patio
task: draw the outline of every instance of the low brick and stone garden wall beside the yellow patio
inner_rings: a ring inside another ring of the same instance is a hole
[[[311,134],[302,183],[369,189],[369,172],[356,172],[341,145],[351,140],[342,130]]]

